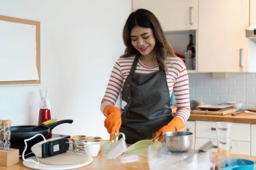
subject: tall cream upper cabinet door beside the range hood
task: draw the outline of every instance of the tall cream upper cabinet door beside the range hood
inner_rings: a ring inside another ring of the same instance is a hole
[[[199,72],[246,72],[249,0],[199,0]]]

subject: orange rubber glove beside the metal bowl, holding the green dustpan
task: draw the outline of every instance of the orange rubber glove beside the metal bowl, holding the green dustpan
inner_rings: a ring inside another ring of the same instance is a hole
[[[166,126],[163,126],[155,133],[153,141],[158,138],[158,141],[162,142],[162,134],[165,132],[176,132],[184,128],[185,124],[179,117],[173,118]]]

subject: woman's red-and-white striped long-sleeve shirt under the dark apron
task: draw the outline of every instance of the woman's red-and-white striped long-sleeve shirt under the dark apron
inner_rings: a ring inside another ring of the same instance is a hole
[[[123,84],[130,73],[134,58],[135,56],[119,58],[115,63],[108,81],[108,86],[106,87],[106,92],[101,101],[100,109],[102,112],[106,105],[115,105],[117,98],[122,91]],[[166,73],[168,89],[170,95],[172,95],[172,91],[174,91],[177,104],[176,116],[182,118],[183,122],[186,122],[191,111],[189,104],[189,77],[187,69],[183,60],[179,57],[168,57],[166,64],[168,67],[168,73]],[[146,67],[139,60],[135,73],[149,74],[156,71],[159,71],[158,65],[156,67]]]

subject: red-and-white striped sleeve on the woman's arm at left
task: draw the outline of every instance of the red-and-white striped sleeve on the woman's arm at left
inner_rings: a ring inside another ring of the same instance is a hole
[[[100,104],[100,110],[102,113],[106,105],[115,105],[122,87],[123,77],[121,74],[119,60],[117,60],[111,72],[110,79],[108,81],[108,86],[106,87],[106,92]]]

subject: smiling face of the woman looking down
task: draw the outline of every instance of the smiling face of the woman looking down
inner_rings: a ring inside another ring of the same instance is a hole
[[[154,56],[154,47],[156,38],[151,28],[135,26],[131,30],[131,44],[138,50],[142,56]]]

